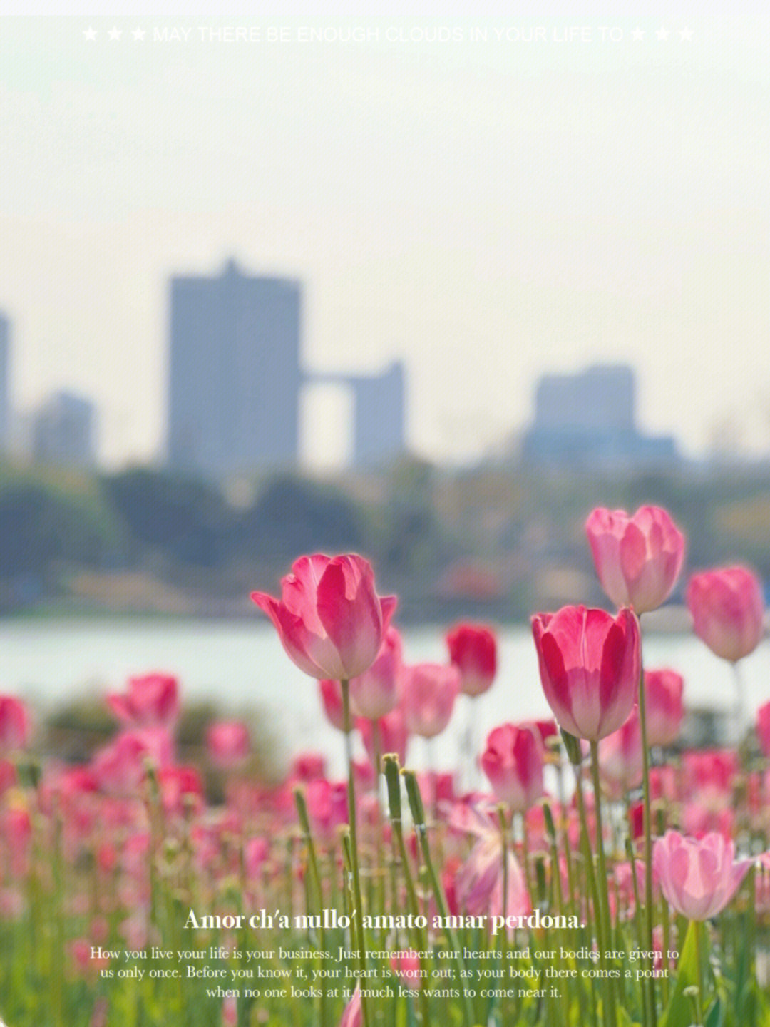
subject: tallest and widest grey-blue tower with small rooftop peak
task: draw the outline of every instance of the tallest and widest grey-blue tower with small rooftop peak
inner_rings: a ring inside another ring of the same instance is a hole
[[[214,476],[299,455],[301,289],[228,263],[175,277],[170,295],[168,462]]]

